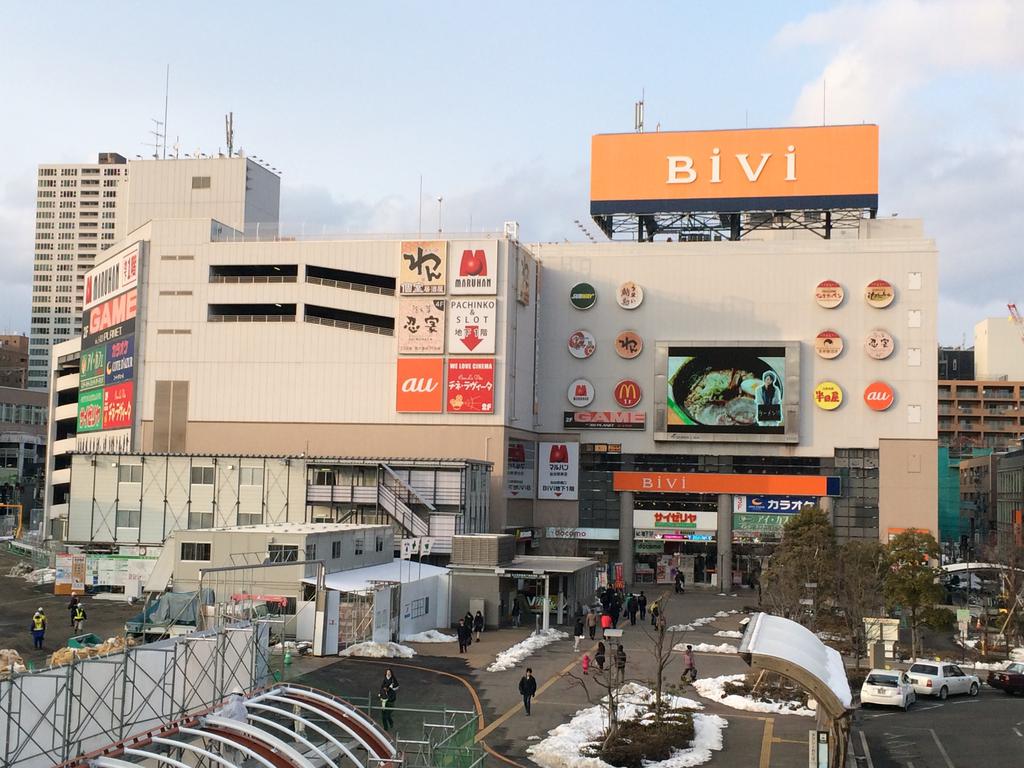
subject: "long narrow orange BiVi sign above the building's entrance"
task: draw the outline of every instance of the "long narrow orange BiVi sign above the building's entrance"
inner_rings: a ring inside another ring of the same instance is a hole
[[[711,472],[612,472],[614,490],[648,494],[841,496],[841,478],[822,475],[736,475]]]

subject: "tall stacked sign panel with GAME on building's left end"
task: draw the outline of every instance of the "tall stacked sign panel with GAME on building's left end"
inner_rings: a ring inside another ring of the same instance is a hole
[[[85,275],[79,453],[128,453],[135,425],[138,275],[143,244],[134,243]]]

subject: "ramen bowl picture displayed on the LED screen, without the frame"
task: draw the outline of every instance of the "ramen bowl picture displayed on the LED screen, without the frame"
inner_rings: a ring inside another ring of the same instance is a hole
[[[669,432],[785,431],[784,347],[670,347]]]

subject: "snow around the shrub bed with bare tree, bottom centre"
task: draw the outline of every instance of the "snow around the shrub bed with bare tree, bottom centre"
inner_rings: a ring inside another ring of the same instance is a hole
[[[635,718],[647,710],[653,691],[636,683],[620,688],[618,718]],[[696,701],[682,696],[663,695],[663,700],[677,709],[701,709]],[[647,715],[652,717],[652,715]],[[722,749],[722,730],[728,725],[718,715],[693,716],[693,743],[677,751],[668,760],[646,763],[645,768],[691,768],[712,759],[712,753]],[[543,768],[610,768],[600,758],[586,758],[581,752],[597,741],[606,727],[605,708],[598,705],[580,710],[567,723],[548,731],[548,737],[526,750],[530,759]]]

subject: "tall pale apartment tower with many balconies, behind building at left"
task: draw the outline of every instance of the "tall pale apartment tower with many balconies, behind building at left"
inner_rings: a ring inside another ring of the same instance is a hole
[[[100,153],[95,163],[39,166],[30,389],[49,384],[50,347],[80,333],[82,278],[119,233],[127,179],[128,161],[117,153]]]

